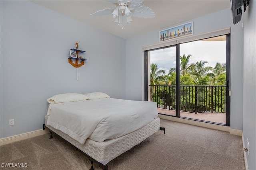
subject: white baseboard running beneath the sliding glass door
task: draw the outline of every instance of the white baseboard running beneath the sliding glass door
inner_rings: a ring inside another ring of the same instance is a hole
[[[216,130],[220,130],[220,131],[226,131],[226,132],[230,133],[230,127],[228,127],[228,126],[216,125],[216,124],[212,124],[212,123],[205,123],[205,122],[201,122],[201,121],[194,121],[194,120],[190,120],[190,119],[182,119],[182,118],[178,118],[178,117],[166,116],[166,115],[160,115],[160,114],[158,114],[158,117],[160,119],[177,121],[177,122],[180,122],[180,123],[186,123],[186,124],[190,124],[190,125],[196,125],[196,126],[206,127],[206,128],[209,128],[209,129],[216,129]],[[233,135],[239,135],[239,136],[242,135],[242,131],[238,131],[238,130],[235,130],[235,129],[232,129],[231,132],[232,132]]]

